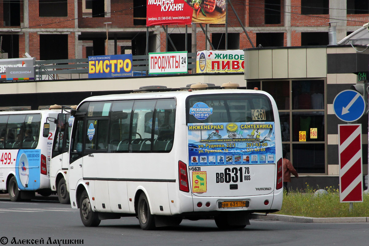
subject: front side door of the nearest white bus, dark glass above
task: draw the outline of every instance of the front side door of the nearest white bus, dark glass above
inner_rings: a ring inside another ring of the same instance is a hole
[[[69,184],[70,190],[75,190],[78,180],[83,178],[83,123],[85,115],[76,115],[74,119],[73,135],[70,138],[69,153]]]

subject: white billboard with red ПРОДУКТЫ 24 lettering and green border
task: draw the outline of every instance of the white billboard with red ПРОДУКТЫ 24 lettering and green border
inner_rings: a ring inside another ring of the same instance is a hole
[[[149,74],[187,73],[187,51],[149,53]]]

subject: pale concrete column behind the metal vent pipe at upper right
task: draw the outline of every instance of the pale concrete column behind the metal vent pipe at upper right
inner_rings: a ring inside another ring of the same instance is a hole
[[[346,37],[347,33],[347,21],[346,17],[346,0],[329,0],[329,17],[334,19],[341,19],[341,20],[332,20],[329,21],[332,22],[338,22],[337,23],[337,42]],[[328,26],[328,24],[327,24]]]

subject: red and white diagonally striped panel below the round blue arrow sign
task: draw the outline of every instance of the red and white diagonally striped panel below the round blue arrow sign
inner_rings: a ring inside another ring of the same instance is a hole
[[[338,142],[339,201],[362,202],[361,124],[338,125]]]

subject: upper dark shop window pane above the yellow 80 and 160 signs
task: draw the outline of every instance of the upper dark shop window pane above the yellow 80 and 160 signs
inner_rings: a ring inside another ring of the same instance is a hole
[[[293,80],[292,109],[324,109],[324,80]]]

